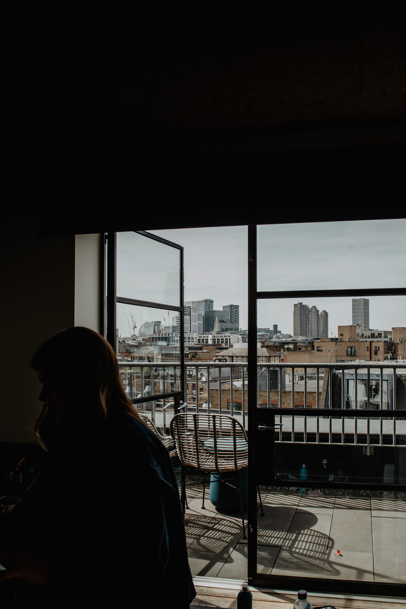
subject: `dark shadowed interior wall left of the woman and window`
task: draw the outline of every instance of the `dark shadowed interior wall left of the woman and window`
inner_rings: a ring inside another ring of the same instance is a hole
[[[38,208],[18,200],[4,211],[0,442],[34,441],[30,425],[41,403],[30,359],[74,325],[75,236],[39,236],[38,217]]]

